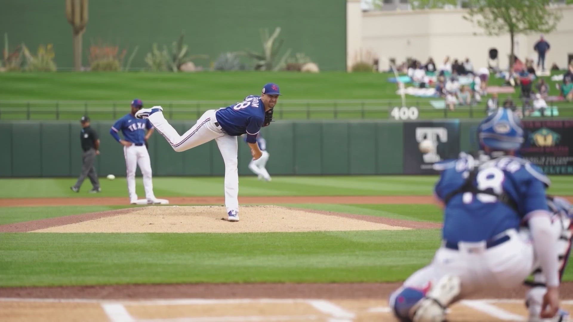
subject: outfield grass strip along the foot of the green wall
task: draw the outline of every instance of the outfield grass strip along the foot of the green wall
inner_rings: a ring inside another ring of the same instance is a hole
[[[573,195],[573,176],[550,176],[548,193]],[[254,176],[239,178],[240,196],[328,196],[328,195],[431,195],[437,176],[273,176],[272,182]],[[3,178],[0,198],[121,197],[127,200],[125,178],[101,179],[100,194],[88,194],[84,183],[80,193],[69,189],[76,178]],[[136,179],[143,195],[142,179]],[[222,176],[155,177],[158,197],[222,196]]]

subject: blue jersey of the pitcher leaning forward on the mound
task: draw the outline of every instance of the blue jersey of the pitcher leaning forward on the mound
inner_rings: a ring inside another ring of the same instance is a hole
[[[265,121],[265,105],[260,96],[249,95],[241,103],[218,109],[215,116],[228,135],[256,135]]]

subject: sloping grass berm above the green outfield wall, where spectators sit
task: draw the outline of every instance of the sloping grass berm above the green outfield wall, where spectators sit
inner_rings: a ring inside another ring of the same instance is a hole
[[[258,93],[262,85],[270,81],[279,84],[283,93],[276,107],[276,119],[388,119],[391,109],[402,105],[401,97],[395,93],[397,86],[388,83],[388,77],[393,77],[393,74],[2,73],[0,119],[27,119],[28,114],[30,119],[35,120],[56,119],[58,109],[58,119],[76,120],[85,113],[87,105],[87,111],[93,119],[111,120],[114,118],[113,109],[117,115],[122,115],[134,97],[143,99],[147,106],[163,105],[171,113],[172,119],[197,119],[198,112],[233,104],[246,95]],[[555,83],[549,77],[546,80],[550,84],[550,95],[558,95]],[[502,83],[500,79],[490,80],[490,85]],[[509,96],[518,97],[519,89],[512,95],[500,95],[501,99]],[[481,105],[472,109],[458,107],[453,112],[432,108],[430,100],[434,99],[407,96],[406,105],[420,107],[421,119],[480,118],[485,115],[485,99]],[[553,105],[559,107],[560,117],[573,116],[571,103],[558,102]]]

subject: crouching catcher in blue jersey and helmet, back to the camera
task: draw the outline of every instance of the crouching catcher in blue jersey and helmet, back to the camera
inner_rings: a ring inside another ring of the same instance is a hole
[[[478,127],[489,157],[471,155],[437,164],[434,193],[444,206],[442,246],[430,265],[415,272],[390,297],[400,321],[442,322],[446,308],[482,289],[513,288],[539,262],[546,289],[539,317],[559,310],[559,265],[545,187],[550,180],[515,151],[523,128],[509,109]],[[520,233],[527,223],[529,234]],[[535,253],[535,257],[534,257]]]

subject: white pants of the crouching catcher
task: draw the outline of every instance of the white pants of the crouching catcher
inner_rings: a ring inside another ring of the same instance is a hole
[[[462,299],[479,290],[519,286],[531,273],[533,246],[516,230],[507,234],[511,237],[508,241],[489,249],[485,242],[460,242],[458,250],[439,248],[431,264],[415,272],[403,286],[424,289],[443,276],[457,276]]]

